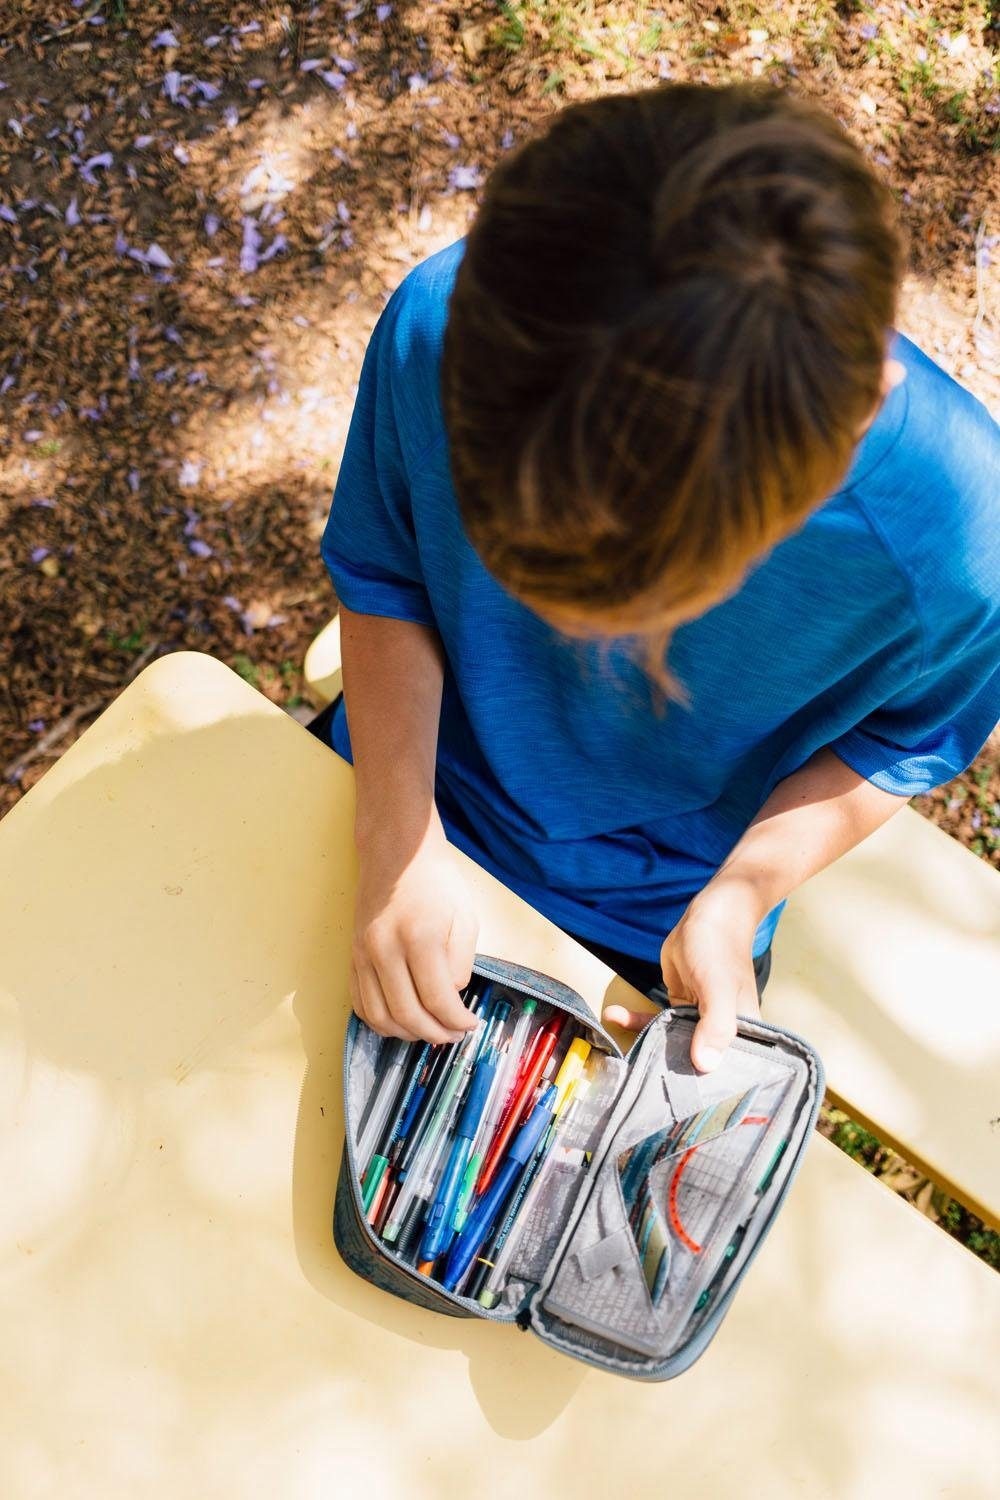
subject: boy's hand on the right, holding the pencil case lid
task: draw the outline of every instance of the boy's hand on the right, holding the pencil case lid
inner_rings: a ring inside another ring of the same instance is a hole
[[[742,882],[717,876],[694,897],[660,950],[670,1000],[697,1005],[700,1020],[691,1040],[691,1062],[711,1072],[736,1035],[738,1016],[759,1016],[753,940],[760,914]],[[652,1017],[624,1005],[609,1005],[604,1020],[630,1030]]]

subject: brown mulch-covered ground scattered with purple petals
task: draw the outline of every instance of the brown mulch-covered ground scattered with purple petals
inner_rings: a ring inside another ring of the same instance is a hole
[[[565,100],[823,100],[900,201],[900,326],[1000,414],[997,0],[9,0],[0,27],[0,813],[160,652],[307,708],[367,334]],[[1000,742],[921,808],[1000,867]]]

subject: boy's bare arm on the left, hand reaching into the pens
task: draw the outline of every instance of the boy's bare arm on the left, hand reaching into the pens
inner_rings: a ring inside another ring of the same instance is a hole
[[[451,1041],[475,1026],[459,990],[478,921],[433,800],[441,642],[343,604],[340,642],[357,774],[351,999],[382,1035]]]

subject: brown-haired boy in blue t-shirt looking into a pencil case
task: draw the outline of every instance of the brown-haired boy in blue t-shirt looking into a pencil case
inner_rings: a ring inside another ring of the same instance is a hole
[[[376,1030],[469,1024],[447,838],[708,1071],[789,892],[987,740],[1000,432],[901,268],[829,116],[666,86],[562,111],[393,296],[324,537]]]

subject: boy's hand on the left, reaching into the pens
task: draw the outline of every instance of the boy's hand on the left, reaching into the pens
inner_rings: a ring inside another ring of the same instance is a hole
[[[477,1024],[459,992],[478,918],[436,812],[420,838],[394,828],[358,855],[351,1002],[382,1036],[460,1040]]]

